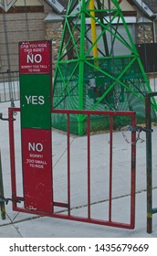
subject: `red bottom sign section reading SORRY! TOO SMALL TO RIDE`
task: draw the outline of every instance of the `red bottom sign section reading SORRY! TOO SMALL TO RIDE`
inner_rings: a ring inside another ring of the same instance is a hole
[[[25,208],[52,212],[51,131],[22,129]]]

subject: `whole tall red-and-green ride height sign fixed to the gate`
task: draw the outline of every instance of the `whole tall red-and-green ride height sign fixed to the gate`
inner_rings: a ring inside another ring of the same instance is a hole
[[[19,43],[25,208],[52,212],[51,42]]]

